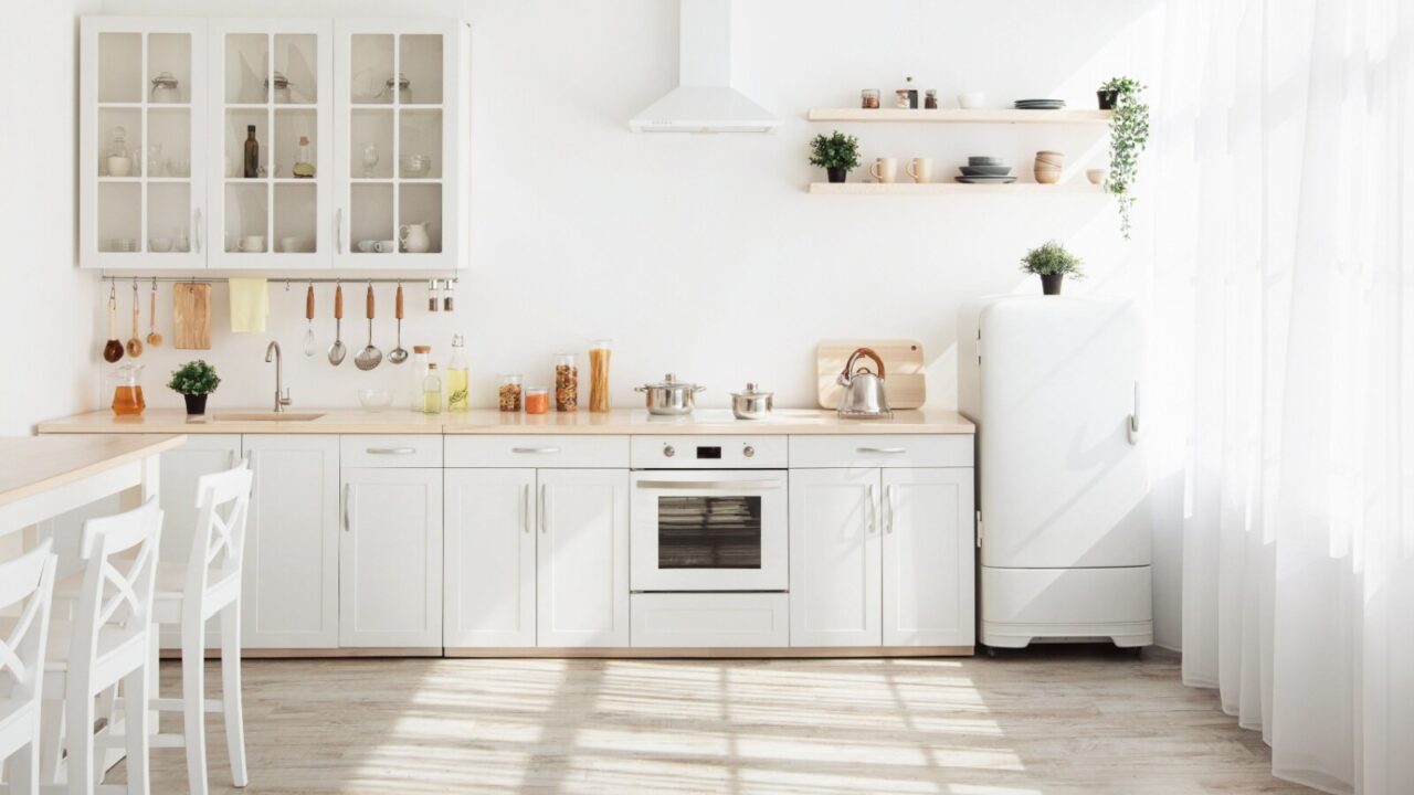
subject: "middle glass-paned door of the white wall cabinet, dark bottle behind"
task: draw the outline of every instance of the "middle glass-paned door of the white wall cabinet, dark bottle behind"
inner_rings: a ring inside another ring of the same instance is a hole
[[[332,263],[332,23],[211,21],[211,267]]]

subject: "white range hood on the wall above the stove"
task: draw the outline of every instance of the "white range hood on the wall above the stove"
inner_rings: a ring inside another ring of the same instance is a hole
[[[731,88],[732,0],[680,0],[679,86],[629,119],[635,133],[769,133],[781,120]]]

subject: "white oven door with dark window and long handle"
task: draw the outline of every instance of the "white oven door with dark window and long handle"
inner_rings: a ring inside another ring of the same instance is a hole
[[[632,590],[786,590],[785,471],[639,471],[632,485]]]

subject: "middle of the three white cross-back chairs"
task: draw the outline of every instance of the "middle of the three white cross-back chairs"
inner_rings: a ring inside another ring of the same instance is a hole
[[[148,661],[156,642],[153,587],[161,532],[156,497],[133,511],[83,522],[83,576],[72,620],[49,622],[41,726],[45,778],[58,784],[62,747],[62,791],[71,795],[93,795],[103,775],[95,755],[95,699],[122,683],[124,704],[148,700],[148,675],[156,673]],[[124,709],[123,720],[126,789],[147,795],[147,710]]]

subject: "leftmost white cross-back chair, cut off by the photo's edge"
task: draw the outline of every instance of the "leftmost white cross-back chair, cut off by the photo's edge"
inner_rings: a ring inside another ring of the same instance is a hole
[[[10,795],[40,792],[44,649],[58,562],[51,546],[45,539],[34,550],[0,563],[0,611],[18,608],[18,617],[0,627],[0,764],[7,768]]]

